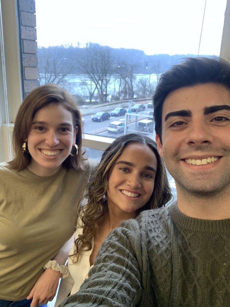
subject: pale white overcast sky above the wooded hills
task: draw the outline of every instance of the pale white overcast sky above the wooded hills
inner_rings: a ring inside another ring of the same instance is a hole
[[[219,56],[226,1],[35,0],[37,43]]]

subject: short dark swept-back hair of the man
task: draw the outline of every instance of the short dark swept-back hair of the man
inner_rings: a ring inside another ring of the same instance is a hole
[[[169,93],[181,87],[219,83],[230,88],[230,64],[220,58],[188,57],[160,76],[153,95],[155,131],[162,142],[162,108]]]

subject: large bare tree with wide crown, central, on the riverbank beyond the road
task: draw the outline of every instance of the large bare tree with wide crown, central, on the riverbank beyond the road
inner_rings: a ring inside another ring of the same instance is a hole
[[[103,102],[104,98],[106,100],[107,88],[111,83],[113,61],[109,47],[89,43],[82,48],[77,63],[82,74],[90,80],[90,101],[96,90],[100,101]]]

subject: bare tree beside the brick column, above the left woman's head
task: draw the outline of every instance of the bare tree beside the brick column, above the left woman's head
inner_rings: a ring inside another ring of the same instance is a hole
[[[74,62],[68,56],[65,46],[38,48],[39,83],[56,83],[69,86],[66,76],[75,70]]]

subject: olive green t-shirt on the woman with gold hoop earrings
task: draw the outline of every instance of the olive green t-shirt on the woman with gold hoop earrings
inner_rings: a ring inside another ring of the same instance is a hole
[[[62,168],[48,177],[0,164],[1,299],[25,299],[43,266],[74,233],[75,205],[92,163],[86,160],[85,171]]]

